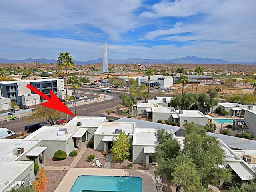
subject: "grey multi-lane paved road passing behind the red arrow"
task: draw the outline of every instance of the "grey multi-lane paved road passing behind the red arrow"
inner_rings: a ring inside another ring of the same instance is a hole
[[[94,93],[94,92],[92,92]],[[95,93],[99,93],[96,92]],[[80,92],[79,92],[80,94]],[[85,95],[85,94],[84,94]],[[99,102],[84,102],[84,104],[78,104],[76,106],[77,116],[97,116],[97,114],[102,114],[106,112],[106,110],[115,110],[116,102],[121,103],[121,100],[118,98],[119,93],[106,93],[106,95],[110,95],[113,98],[110,100],[102,100]],[[87,95],[86,95],[87,96]],[[93,97],[90,95],[91,98]],[[89,97],[89,96],[88,96]],[[69,107],[69,109],[74,113],[74,106]],[[64,117],[64,116],[63,116]],[[66,116],[65,116],[66,117]],[[69,116],[70,119],[73,116]],[[22,132],[26,124],[34,123],[35,121],[27,122],[27,117],[21,117],[20,119],[10,120],[10,121],[0,121],[0,128],[5,127],[16,133]],[[50,125],[46,120],[42,123],[46,125]]]

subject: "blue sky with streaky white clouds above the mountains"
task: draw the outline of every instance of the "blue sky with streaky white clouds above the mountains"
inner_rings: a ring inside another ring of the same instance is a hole
[[[256,0],[2,0],[0,58],[256,61]]]

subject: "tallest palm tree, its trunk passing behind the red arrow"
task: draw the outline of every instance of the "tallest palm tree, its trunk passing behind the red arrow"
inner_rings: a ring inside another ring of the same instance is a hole
[[[68,52],[59,53],[57,65],[60,68],[65,69],[65,77],[66,77],[66,107],[68,108],[68,74],[67,74],[67,67],[74,67],[73,56],[70,55]],[[68,114],[67,115],[67,122],[68,122]]]

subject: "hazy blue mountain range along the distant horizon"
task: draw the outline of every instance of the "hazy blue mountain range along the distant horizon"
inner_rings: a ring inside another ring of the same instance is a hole
[[[5,58],[0,58],[0,63],[56,63],[55,59],[24,59],[24,60],[9,60]],[[93,63],[102,63],[103,59],[99,58],[96,60],[88,60],[88,61],[76,61],[74,63],[76,65],[86,65]],[[210,59],[210,58],[200,58],[196,56],[186,56],[177,59],[141,59],[141,58],[129,58],[129,59],[108,59],[109,64],[143,64],[143,65],[152,65],[152,64],[243,64],[243,65],[256,65],[255,62],[229,62],[222,59]]]

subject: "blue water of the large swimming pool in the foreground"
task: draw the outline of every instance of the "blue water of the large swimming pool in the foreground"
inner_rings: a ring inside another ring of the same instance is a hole
[[[142,192],[140,177],[88,176],[76,178],[70,192]]]

